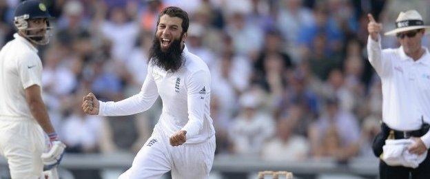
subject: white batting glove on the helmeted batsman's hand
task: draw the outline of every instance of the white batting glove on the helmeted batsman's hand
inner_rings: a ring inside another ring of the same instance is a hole
[[[47,153],[43,153],[41,158],[45,169],[52,169],[60,164],[63,158],[65,145],[60,140],[52,141],[52,147]]]

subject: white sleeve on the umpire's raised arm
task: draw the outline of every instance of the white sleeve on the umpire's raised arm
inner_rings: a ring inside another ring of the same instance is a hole
[[[378,41],[373,41],[371,36],[367,38],[367,54],[369,55],[369,62],[376,70],[379,76],[386,76],[391,69],[389,59],[385,58],[381,48],[381,37],[378,35]]]

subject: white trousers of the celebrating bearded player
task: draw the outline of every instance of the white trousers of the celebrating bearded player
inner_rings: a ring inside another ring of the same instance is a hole
[[[132,167],[119,179],[161,178],[172,171],[173,179],[209,178],[215,154],[215,136],[198,144],[172,147],[169,137],[155,127],[133,160]]]

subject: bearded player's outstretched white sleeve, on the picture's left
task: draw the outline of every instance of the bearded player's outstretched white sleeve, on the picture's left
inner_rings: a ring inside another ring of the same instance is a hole
[[[100,116],[127,116],[144,112],[150,109],[158,98],[158,89],[154,78],[152,78],[152,70],[148,69],[145,82],[143,82],[141,92],[130,98],[118,102],[100,102]]]

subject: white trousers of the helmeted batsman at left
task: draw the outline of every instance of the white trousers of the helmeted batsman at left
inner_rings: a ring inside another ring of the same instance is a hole
[[[0,118],[0,155],[8,160],[12,179],[42,178],[43,130],[34,119]]]

